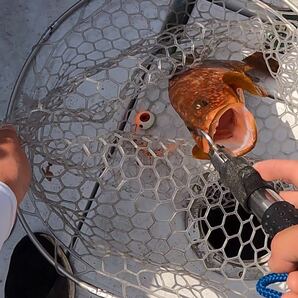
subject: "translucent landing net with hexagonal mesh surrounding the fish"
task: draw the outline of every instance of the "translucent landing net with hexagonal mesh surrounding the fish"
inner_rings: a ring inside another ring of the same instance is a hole
[[[258,74],[269,96],[246,95],[258,126],[248,157],[296,158],[296,24],[282,1],[266,3],[81,1],[42,37],[8,120],[32,163],[22,214],[55,237],[75,277],[121,297],[254,296],[269,240],[192,157],[168,82],[206,58],[275,59]],[[141,130],[145,110],[156,119]]]

